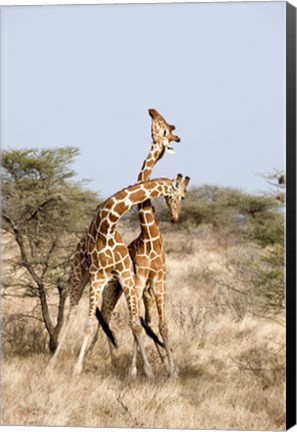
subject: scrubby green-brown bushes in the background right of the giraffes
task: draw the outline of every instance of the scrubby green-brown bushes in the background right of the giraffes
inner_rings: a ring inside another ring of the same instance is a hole
[[[159,206],[157,217],[168,220],[164,204]],[[243,258],[249,276],[247,283],[262,308],[283,308],[284,214],[275,196],[209,185],[194,187],[183,203],[179,227],[196,236],[197,227],[206,225],[217,233],[221,245],[237,239],[242,244],[252,242],[260,247],[256,259]]]

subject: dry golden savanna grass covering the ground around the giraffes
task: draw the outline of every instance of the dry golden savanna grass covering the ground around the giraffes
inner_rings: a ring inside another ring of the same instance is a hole
[[[132,333],[123,298],[111,323],[119,342],[115,369],[100,333],[83,373],[72,377],[88,308],[86,292],[54,370],[46,368],[49,355],[42,352],[46,335],[39,321],[11,320],[3,328],[2,424],[284,429],[284,315],[261,314],[255,307],[242,263],[259,253],[256,246],[219,240],[207,226],[191,235],[164,233],[166,310],[178,379],[167,377],[147,337],[156,378],[144,376],[139,359],[138,376],[129,379]],[[36,302],[4,298],[3,316],[25,314]]]

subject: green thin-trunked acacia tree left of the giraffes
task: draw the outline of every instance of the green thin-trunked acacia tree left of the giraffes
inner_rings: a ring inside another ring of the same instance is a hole
[[[2,154],[2,230],[19,251],[5,292],[39,299],[54,352],[63,325],[71,256],[88,227],[98,196],[74,181],[77,148],[9,150]],[[22,272],[19,270],[22,269]],[[58,294],[53,313],[49,297]]]

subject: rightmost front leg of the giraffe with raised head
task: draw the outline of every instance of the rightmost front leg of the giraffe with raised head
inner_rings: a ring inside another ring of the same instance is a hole
[[[164,277],[157,277],[153,284],[154,294],[157,303],[157,310],[159,315],[159,331],[163,338],[163,342],[165,345],[165,350],[167,354],[168,360],[168,373],[172,378],[178,377],[177,369],[174,365],[174,360],[172,356],[172,352],[169,346],[168,340],[168,325],[165,319],[165,279]]]

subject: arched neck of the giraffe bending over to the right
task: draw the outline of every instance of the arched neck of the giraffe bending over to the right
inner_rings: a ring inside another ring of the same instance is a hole
[[[89,234],[93,238],[98,234],[110,238],[115,233],[119,219],[133,206],[171,192],[172,181],[166,178],[137,183],[123,189],[99,206]]]

